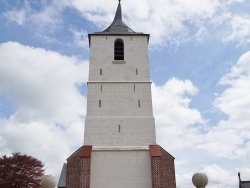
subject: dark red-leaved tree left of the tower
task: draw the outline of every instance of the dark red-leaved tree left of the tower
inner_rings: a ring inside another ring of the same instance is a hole
[[[1,188],[38,188],[44,175],[44,164],[28,155],[12,153],[0,157]]]

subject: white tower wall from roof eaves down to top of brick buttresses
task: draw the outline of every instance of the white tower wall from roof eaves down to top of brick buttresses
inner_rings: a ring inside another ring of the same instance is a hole
[[[114,60],[116,39],[124,60]],[[155,144],[147,35],[92,35],[84,143]]]

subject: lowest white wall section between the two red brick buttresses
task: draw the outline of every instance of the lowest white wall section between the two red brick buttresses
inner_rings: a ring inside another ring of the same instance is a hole
[[[149,151],[93,151],[91,188],[152,188]]]

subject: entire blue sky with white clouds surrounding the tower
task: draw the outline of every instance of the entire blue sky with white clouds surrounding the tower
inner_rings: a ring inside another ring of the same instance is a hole
[[[122,0],[150,34],[157,143],[175,157],[178,188],[250,180],[250,1]],[[0,0],[0,155],[22,152],[59,178],[83,144],[88,34],[117,0]]]

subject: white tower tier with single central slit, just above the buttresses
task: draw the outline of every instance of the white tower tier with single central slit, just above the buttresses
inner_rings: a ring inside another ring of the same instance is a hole
[[[87,118],[85,144],[93,146],[148,146],[155,144],[154,118]],[[119,132],[120,126],[120,132]]]

